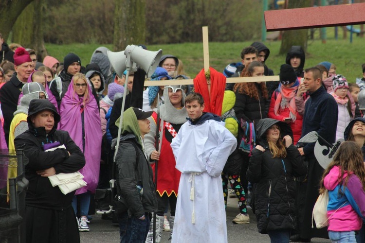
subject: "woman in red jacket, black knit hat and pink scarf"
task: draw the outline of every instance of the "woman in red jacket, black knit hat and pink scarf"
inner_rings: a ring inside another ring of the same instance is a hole
[[[300,82],[294,69],[288,64],[281,65],[279,76],[280,84],[271,97],[268,117],[288,123],[296,145],[302,135],[303,125],[303,116],[297,112],[294,99]]]

